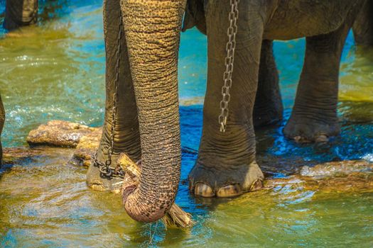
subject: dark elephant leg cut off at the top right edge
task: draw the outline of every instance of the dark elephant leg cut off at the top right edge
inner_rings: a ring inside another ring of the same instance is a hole
[[[367,1],[357,15],[352,30],[357,45],[373,46],[373,1]]]

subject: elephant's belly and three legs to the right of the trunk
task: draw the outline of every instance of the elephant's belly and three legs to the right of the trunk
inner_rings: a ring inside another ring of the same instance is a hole
[[[190,172],[192,192],[207,197],[236,196],[249,191],[255,179],[261,178],[254,169],[253,126],[281,120],[283,109],[272,40],[306,37],[305,64],[284,135],[300,142],[323,142],[340,132],[337,123],[340,57],[347,33],[365,3],[240,1],[229,103],[231,131],[222,135],[217,116],[227,43],[227,33],[223,30],[228,27],[229,4],[209,0],[188,2],[184,30],[197,26],[207,35],[208,43],[204,123],[198,160]]]

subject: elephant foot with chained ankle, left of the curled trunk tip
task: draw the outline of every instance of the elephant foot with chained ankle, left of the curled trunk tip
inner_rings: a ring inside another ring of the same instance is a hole
[[[107,179],[100,175],[99,168],[93,164],[87,171],[87,186],[94,191],[107,191],[112,193],[119,193],[123,179]]]

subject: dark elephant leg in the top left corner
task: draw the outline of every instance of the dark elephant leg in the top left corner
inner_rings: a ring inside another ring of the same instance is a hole
[[[4,28],[13,30],[38,21],[38,0],[6,0]]]

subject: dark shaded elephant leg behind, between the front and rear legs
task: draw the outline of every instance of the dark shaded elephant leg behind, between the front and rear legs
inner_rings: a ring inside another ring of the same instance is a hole
[[[273,41],[263,40],[259,64],[258,90],[254,103],[254,126],[268,125],[282,120],[282,100],[279,72],[274,60]]]

